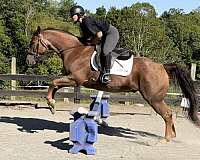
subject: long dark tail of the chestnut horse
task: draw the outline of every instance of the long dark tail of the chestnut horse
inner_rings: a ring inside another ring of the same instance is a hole
[[[200,126],[200,120],[198,118],[198,106],[197,106],[197,94],[188,72],[184,71],[180,66],[176,64],[164,64],[163,65],[168,75],[178,82],[183,92],[183,95],[189,99],[190,107],[188,110],[189,118],[198,126]]]

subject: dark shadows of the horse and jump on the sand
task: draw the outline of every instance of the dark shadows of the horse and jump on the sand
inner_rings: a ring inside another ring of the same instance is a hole
[[[21,117],[0,117],[0,123],[10,123],[15,124],[18,126],[17,130],[20,132],[27,132],[27,133],[38,133],[42,130],[53,130],[59,133],[69,132],[69,123],[63,122],[54,122],[45,119],[38,119],[38,118],[21,118]],[[161,138],[156,134],[152,134],[149,132],[144,131],[137,131],[131,130],[129,128],[123,127],[111,127],[111,126],[99,126],[98,133],[107,135],[107,136],[115,136],[115,137],[122,137],[122,138],[129,138],[129,139],[141,139],[144,138]],[[60,150],[69,150],[72,145],[68,142],[69,137],[56,140],[56,141],[45,141],[44,143],[50,144],[53,147],[56,147]]]

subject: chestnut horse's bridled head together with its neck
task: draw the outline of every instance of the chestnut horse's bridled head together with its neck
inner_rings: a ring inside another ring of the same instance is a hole
[[[34,65],[47,50],[53,50],[60,54],[64,51],[72,51],[80,46],[83,46],[83,44],[73,34],[57,29],[41,31],[41,28],[38,26],[31,38],[26,62],[28,65]]]

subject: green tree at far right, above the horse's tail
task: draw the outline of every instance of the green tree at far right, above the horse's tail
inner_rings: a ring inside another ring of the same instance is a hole
[[[161,16],[166,26],[167,36],[174,42],[174,47],[180,51],[182,64],[190,64],[193,60],[194,46],[198,42],[199,26],[191,15],[182,9],[170,9]],[[197,48],[197,46],[196,46]]]

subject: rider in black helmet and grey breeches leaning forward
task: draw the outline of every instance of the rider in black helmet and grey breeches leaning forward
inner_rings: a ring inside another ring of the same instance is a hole
[[[104,22],[97,21],[96,19],[86,15],[83,7],[73,6],[70,9],[70,17],[73,21],[80,23],[80,28],[83,32],[83,37],[87,40],[98,38],[102,43],[102,52],[100,57],[102,65],[102,83],[107,84],[110,80],[110,67],[111,67],[111,52],[116,47],[119,40],[118,30]]]

